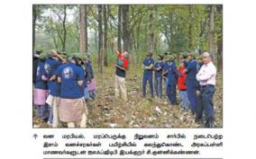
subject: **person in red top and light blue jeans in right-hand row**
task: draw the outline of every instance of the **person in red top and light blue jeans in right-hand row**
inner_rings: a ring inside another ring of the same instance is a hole
[[[179,91],[181,106],[183,110],[188,109],[188,103],[189,103],[187,99],[187,84],[186,84],[187,75],[184,73],[186,63],[187,63],[186,60],[183,59],[180,63],[180,66],[178,67],[178,91]]]

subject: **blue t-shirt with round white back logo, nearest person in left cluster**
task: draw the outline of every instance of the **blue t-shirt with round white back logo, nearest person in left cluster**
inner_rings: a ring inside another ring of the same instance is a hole
[[[61,78],[61,98],[78,99],[84,96],[84,85],[78,85],[78,81],[85,81],[84,70],[81,66],[69,62],[59,67],[58,76]]]

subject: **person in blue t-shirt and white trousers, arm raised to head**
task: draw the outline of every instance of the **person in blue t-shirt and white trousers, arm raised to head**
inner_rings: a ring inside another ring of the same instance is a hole
[[[50,51],[50,57],[44,62],[44,76],[47,78],[49,95],[46,102],[50,105],[50,124],[52,128],[58,128],[58,105],[59,105],[59,84],[57,82],[56,71],[66,60],[58,54],[57,50]],[[52,117],[51,117],[52,116]]]

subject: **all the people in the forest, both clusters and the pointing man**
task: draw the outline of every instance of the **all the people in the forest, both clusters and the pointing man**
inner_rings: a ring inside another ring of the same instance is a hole
[[[128,101],[125,74],[129,65],[128,51],[120,52],[115,63],[115,98]],[[170,105],[177,105],[177,85],[182,109],[191,110],[196,122],[214,127],[214,102],[216,69],[212,55],[204,52],[196,59],[193,54],[180,54],[177,68],[175,56],[160,54],[158,60],[148,52],[143,60],[142,98],[146,97],[147,84],[151,98],[163,98],[162,87]],[[154,76],[153,76],[154,73]],[[154,84],[153,84],[154,79]],[[87,104],[96,98],[96,81],[87,54],[65,54],[56,50],[41,53],[34,81],[34,105],[38,117],[52,128],[59,128],[59,121],[68,128],[86,128]],[[204,112],[204,113],[203,113]]]

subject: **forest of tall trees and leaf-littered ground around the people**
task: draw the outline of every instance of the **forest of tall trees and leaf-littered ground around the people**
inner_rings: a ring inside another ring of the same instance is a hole
[[[126,84],[129,102],[114,100],[113,42],[130,53]],[[147,52],[214,55],[217,84],[215,125],[223,127],[222,4],[33,4],[32,52],[90,55],[96,100],[89,101],[89,128],[201,128],[190,112],[162,101],[142,100],[142,62]],[[165,94],[165,93],[164,93]],[[33,124],[48,128],[33,115]]]

